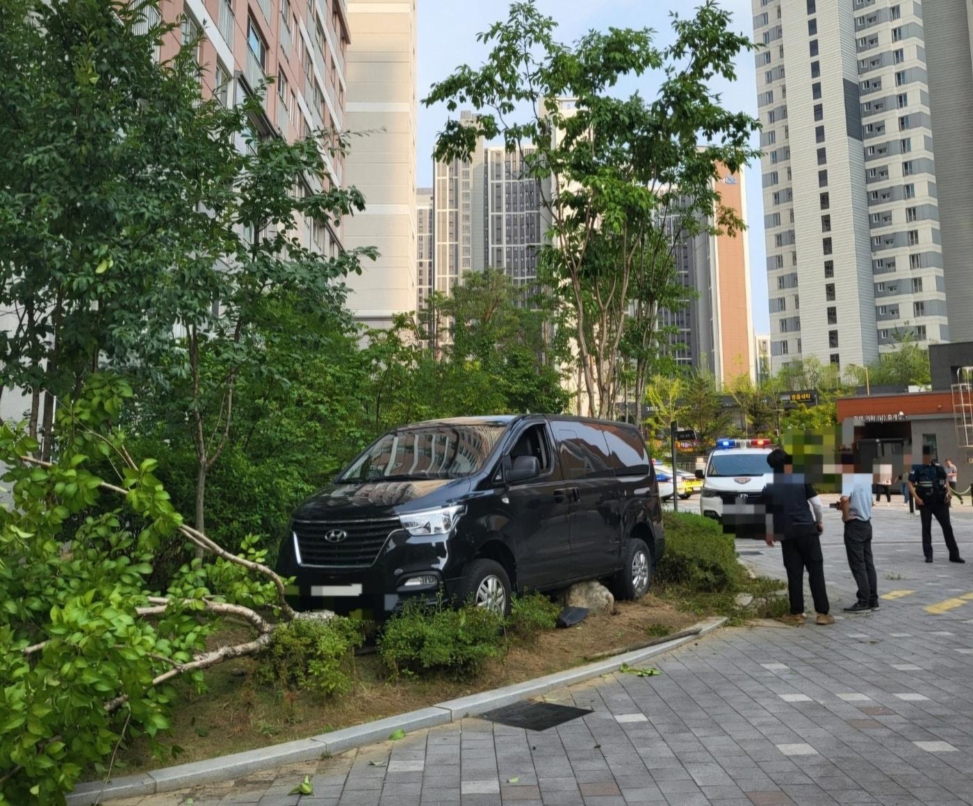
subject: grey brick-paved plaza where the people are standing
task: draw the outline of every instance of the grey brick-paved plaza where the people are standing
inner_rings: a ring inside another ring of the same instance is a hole
[[[879,613],[841,618],[853,585],[840,520],[828,512],[835,626],[725,629],[661,656],[661,677],[611,675],[553,692],[547,699],[595,712],[558,728],[470,718],[113,806],[973,804],[973,509],[954,520],[970,563],[946,562],[934,533],[936,562],[926,565],[919,519],[877,507],[876,564],[888,598]],[[746,559],[781,576],[778,549],[739,548],[761,552]],[[305,773],[314,795],[288,795]]]

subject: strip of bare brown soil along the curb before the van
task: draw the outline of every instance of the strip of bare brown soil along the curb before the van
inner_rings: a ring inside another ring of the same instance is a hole
[[[589,615],[577,626],[534,636],[529,644],[512,643],[506,655],[488,661],[474,680],[465,682],[391,681],[378,655],[362,655],[355,660],[354,691],[330,699],[255,683],[258,661],[239,658],[210,670],[202,693],[179,683],[180,705],[171,735],[162,741],[170,750],[181,751],[158,759],[143,740],[135,740],[119,754],[115,774],[253,750],[522,683],[582,665],[597,652],[623,651],[663,634],[664,627],[677,632],[697,620],[695,614],[682,613],[652,595],[620,602],[611,615]]]

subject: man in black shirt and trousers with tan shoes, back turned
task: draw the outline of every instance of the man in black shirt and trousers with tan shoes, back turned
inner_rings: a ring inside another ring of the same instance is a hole
[[[780,541],[787,590],[790,596],[790,620],[804,623],[804,572],[808,570],[811,597],[818,624],[834,624],[828,613],[828,592],[824,584],[824,556],[820,534],[824,531],[821,499],[811,484],[793,475],[793,460],[775,448],[767,457],[774,480],[764,488],[767,498],[767,544]]]

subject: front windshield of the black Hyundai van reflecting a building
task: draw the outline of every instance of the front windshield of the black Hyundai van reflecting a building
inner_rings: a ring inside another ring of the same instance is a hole
[[[378,438],[338,477],[340,482],[462,478],[482,470],[506,426],[436,424]]]

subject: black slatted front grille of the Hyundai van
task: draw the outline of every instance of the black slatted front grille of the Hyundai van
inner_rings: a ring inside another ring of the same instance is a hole
[[[294,543],[299,565],[315,568],[371,568],[389,536],[400,523],[397,517],[378,520],[294,521]],[[341,541],[327,535],[343,532]]]

